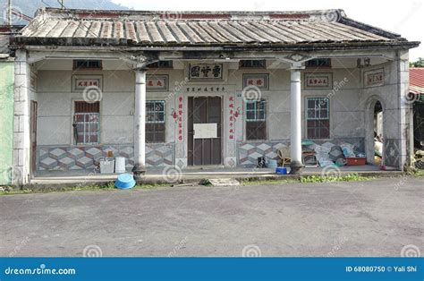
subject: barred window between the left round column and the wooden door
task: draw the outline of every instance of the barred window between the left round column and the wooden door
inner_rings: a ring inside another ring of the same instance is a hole
[[[146,101],[146,142],[165,142],[165,100]]]

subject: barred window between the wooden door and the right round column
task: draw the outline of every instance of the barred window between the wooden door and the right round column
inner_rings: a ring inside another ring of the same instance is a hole
[[[264,99],[246,102],[246,140],[267,139],[267,102]]]

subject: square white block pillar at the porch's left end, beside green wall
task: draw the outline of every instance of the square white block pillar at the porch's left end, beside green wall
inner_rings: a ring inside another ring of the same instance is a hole
[[[13,184],[30,183],[30,65],[26,50],[16,50],[14,72]]]

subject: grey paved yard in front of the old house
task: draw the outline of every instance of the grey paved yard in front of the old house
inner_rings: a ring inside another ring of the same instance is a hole
[[[0,196],[0,255],[400,256],[424,251],[423,188],[394,178]]]

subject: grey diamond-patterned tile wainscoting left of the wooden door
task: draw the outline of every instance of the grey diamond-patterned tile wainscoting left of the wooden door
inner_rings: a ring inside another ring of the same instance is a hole
[[[132,144],[111,144],[87,147],[38,146],[38,171],[94,170],[95,161],[106,158],[112,151],[114,158],[125,158],[127,170],[134,165]],[[174,144],[146,144],[146,166],[172,166],[174,163]]]

